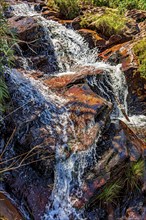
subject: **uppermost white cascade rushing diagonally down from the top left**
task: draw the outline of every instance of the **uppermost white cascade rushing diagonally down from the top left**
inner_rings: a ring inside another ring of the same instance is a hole
[[[16,16],[34,17],[42,26],[46,40],[54,48],[60,71],[69,71],[75,65],[95,63],[97,50],[89,49],[88,44],[74,30],[68,29],[58,22],[46,20],[41,14],[34,11],[33,6],[18,4],[12,8]]]

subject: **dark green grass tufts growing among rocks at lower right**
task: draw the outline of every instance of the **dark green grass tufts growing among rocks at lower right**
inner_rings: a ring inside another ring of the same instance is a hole
[[[97,193],[87,204],[88,207],[95,206],[99,201],[103,204],[115,203],[115,200],[123,197],[125,189],[135,192],[141,190],[144,176],[144,160],[139,159],[136,162],[129,162],[118,175],[113,173],[113,178]],[[124,191],[123,191],[124,190]]]

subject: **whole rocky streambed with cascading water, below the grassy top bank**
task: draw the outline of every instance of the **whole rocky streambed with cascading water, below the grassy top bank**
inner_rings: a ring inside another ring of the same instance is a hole
[[[133,46],[145,12],[129,11],[126,32],[104,37],[42,2],[10,4],[18,40],[1,118],[0,217],[144,219],[145,79]]]

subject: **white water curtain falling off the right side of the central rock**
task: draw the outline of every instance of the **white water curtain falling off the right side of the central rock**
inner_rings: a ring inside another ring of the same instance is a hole
[[[104,70],[104,74],[89,77],[89,85],[96,88],[97,94],[114,104],[111,118],[122,118],[121,109],[124,109],[125,113],[128,114],[128,87],[124,73],[121,71],[121,64],[111,66],[103,62],[98,62],[94,66]]]

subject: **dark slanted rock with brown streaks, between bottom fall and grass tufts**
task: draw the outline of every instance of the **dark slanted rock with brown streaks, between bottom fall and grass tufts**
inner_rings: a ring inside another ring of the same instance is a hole
[[[87,207],[90,206],[92,197],[98,195],[102,186],[112,179],[112,175],[115,178],[116,172],[123,172],[122,167],[127,164],[128,159],[137,161],[142,155],[143,143],[122,121],[112,123],[102,136],[103,140],[108,149],[104,149],[102,159],[98,159],[94,168],[86,172],[81,187],[83,193],[81,198],[72,197],[74,207],[78,209],[83,208],[85,204]],[[98,142],[99,149],[102,147],[101,143]]]

